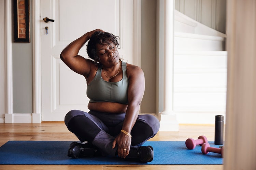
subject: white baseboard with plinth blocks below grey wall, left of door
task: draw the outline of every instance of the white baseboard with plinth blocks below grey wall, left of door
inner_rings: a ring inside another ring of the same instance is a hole
[[[4,114],[4,117],[5,123],[41,123],[41,114],[37,113]]]

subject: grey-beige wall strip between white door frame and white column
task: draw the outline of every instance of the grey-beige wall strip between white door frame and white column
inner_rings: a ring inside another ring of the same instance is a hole
[[[145,74],[145,93],[141,113],[156,110],[156,0],[141,1],[141,69]]]

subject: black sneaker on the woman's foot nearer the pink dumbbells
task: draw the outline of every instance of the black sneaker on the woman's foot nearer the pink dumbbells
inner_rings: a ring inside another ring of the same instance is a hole
[[[125,159],[135,160],[139,162],[151,162],[154,157],[154,151],[152,146],[134,147],[131,146],[129,154]]]

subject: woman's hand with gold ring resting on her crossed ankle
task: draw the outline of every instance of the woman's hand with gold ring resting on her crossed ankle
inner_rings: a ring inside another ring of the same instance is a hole
[[[112,143],[112,148],[114,149],[117,144],[117,154],[120,158],[125,158],[130,151],[131,138],[124,133],[120,133]]]

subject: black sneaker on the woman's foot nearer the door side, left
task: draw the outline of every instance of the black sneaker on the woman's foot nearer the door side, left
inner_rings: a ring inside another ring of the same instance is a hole
[[[68,156],[73,158],[95,157],[101,155],[100,151],[93,145],[72,142],[69,145]]]

